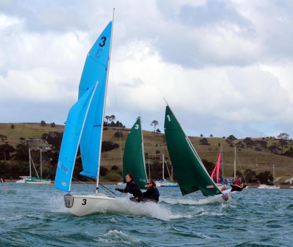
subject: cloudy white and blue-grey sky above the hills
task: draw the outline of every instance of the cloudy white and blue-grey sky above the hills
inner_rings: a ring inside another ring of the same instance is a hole
[[[188,135],[292,137],[290,0],[1,0],[0,122],[65,122],[113,8],[106,115],[163,132],[164,97]]]

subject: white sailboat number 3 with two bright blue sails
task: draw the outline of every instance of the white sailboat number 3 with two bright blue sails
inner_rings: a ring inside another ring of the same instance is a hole
[[[79,99],[68,113],[59,153],[55,188],[68,193],[64,196],[65,206],[77,216],[92,214],[97,205],[114,200],[99,193],[98,188],[113,21],[114,10],[112,21],[87,54],[79,84]],[[80,174],[96,178],[95,194],[70,195],[72,173],[79,146],[83,168]]]

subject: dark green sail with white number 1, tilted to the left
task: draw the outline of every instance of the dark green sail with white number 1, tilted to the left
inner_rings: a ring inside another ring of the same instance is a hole
[[[168,105],[166,106],[164,129],[168,152],[182,195],[188,195],[198,190],[201,190],[205,196],[220,195],[221,191],[210,178],[192,143]]]

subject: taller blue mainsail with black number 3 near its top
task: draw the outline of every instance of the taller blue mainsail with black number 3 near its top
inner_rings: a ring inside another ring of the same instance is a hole
[[[112,21],[110,21],[88,52],[79,84],[79,98],[81,98],[87,91],[87,88],[90,88],[96,84],[96,81],[99,81],[79,144],[83,168],[80,174],[90,178],[98,176],[111,29]]]

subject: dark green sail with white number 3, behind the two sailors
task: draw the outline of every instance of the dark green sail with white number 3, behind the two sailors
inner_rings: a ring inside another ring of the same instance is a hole
[[[123,155],[123,183],[126,183],[127,173],[132,174],[141,189],[147,184],[140,117],[130,129],[126,139]]]

